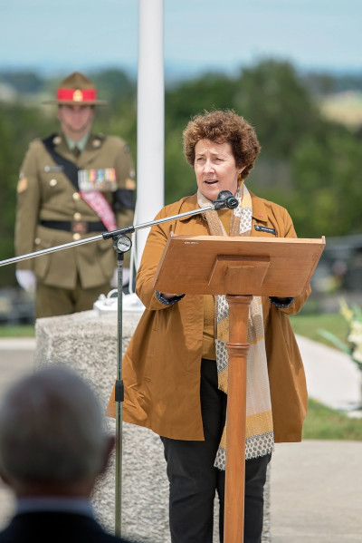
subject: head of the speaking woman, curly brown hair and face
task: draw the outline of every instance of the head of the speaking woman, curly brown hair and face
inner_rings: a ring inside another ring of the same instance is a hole
[[[221,190],[234,195],[239,179],[249,175],[261,149],[252,126],[230,110],[196,115],[183,139],[197,187],[208,199],[217,198]]]

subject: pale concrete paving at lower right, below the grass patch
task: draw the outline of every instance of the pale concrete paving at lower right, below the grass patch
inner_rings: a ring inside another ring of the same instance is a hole
[[[362,442],[276,445],[271,543],[361,543]]]

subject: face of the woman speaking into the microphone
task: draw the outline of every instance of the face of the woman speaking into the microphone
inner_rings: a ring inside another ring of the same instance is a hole
[[[235,196],[238,176],[244,169],[236,167],[228,141],[215,143],[210,140],[197,141],[194,168],[198,189],[211,200],[217,199],[221,190],[230,190]]]

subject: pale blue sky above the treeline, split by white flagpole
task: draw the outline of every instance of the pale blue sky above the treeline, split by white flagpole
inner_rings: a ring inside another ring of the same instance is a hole
[[[165,63],[362,72],[361,0],[164,0]],[[0,0],[0,69],[137,69],[138,0]]]

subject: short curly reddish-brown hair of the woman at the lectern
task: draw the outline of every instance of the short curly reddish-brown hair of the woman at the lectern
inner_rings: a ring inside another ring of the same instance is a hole
[[[261,146],[252,126],[232,110],[215,110],[198,114],[188,122],[183,132],[184,154],[194,167],[197,141],[210,140],[215,143],[228,141],[233,150],[237,168],[244,166],[243,179],[249,175]]]

